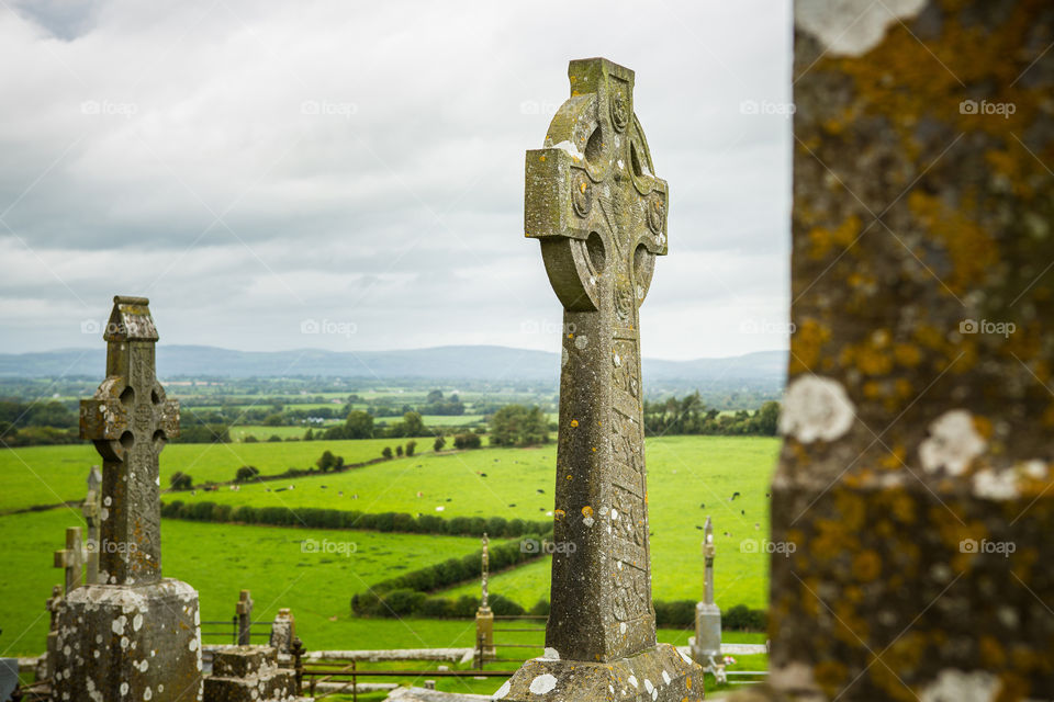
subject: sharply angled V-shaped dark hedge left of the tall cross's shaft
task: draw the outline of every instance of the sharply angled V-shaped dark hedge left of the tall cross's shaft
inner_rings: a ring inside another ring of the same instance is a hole
[[[452,520],[451,520],[452,521]],[[538,551],[525,551],[520,542],[513,541],[504,544],[492,544],[490,547],[491,571],[504,570],[541,556]],[[483,552],[476,551],[461,558],[447,558],[442,563],[411,570],[403,575],[382,580],[372,586],[368,592],[360,592],[351,598],[351,611],[359,616],[393,616],[405,613],[416,613],[422,616],[460,616],[458,600],[446,598],[428,598],[427,592],[447,588],[466,580],[480,578],[483,569]],[[418,597],[419,596],[419,597]],[[471,598],[470,598],[471,599]],[[444,600],[442,603],[428,600]],[[475,600],[473,600],[475,601]],[[502,607],[519,609],[515,602],[504,600]],[[476,604],[479,604],[476,602]],[[492,608],[494,604],[492,603]],[[427,609],[428,613],[425,613]],[[495,613],[505,613],[497,612]],[[472,610],[474,613],[475,610]],[[519,611],[508,611],[511,614],[523,614]]]

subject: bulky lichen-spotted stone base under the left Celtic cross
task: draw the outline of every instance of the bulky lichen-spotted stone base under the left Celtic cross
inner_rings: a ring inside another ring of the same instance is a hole
[[[56,701],[201,700],[198,592],[179,580],[87,585],[58,612]]]

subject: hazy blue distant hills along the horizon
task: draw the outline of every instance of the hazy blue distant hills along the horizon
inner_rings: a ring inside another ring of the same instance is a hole
[[[0,377],[98,377],[105,367],[104,359],[102,348],[3,353],[0,354]],[[721,381],[782,385],[786,365],[786,351],[761,351],[695,361],[644,359],[643,373],[648,383],[681,385]],[[547,351],[490,346],[356,352],[159,346],[157,366],[162,378],[327,376],[554,382],[560,374],[560,358]]]

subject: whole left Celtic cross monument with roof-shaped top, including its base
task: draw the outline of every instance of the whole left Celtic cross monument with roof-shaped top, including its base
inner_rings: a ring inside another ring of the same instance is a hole
[[[198,593],[161,578],[158,454],[179,432],[179,406],[155,375],[148,304],[114,298],[106,380],[81,401],[81,437],[103,458],[100,582],[69,592],[60,610],[57,700],[201,695]]]

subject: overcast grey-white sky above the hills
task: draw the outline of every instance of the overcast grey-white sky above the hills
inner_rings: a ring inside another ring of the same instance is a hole
[[[0,352],[101,344],[114,294],[162,343],[558,349],[524,150],[591,56],[670,183],[644,355],[786,348],[790,32],[787,0],[0,4]]]

